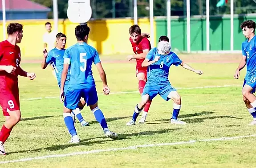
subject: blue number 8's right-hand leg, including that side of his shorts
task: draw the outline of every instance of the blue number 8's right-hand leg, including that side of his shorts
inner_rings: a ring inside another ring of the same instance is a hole
[[[175,88],[173,88],[171,84],[167,84],[160,89],[159,94],[166,101],[170,99],[173,100],[171,124],[185,125],[186,122],[178,120],[179,111],[181,109],[181,97]]]

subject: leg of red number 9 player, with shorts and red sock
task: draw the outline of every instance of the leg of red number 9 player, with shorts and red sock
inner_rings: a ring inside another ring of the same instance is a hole
[[[14,95],[15,94],[15,95]],[[1,93],[0,94],[0,105],[3,109],[6,121],[0,131],[0,154],[5,155],[4,142],[10,136],[12,128],[20,121],[20,103],[19,94],[13,93]]]

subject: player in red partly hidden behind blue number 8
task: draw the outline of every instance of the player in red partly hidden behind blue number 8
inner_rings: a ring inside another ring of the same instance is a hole
[[[147,53],[151,49],[150,41],[147,39],[147,35],[141,33],[141,29],[138,25],[133,25],[129,28],[130,33],[130,43],[132,45],[135,55],[128,55],[127,59],[130,61],[136,59],[136,77],[138,79],[138,90],[142,94],[144,86],[147,81],[147,67],[142,67],[141,64],[146,58]],[[146,121],[147,112],[150,108],[151,100],[146,103],[144,107],[143,114],[139,123],[144,123]]]

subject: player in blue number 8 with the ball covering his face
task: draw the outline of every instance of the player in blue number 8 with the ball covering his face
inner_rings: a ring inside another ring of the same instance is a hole
[[[152,100],[157,94],[166,101],[170,99],[174,101],[171,124],[186,124],[186,122],[178,120],[181,97],[175,88],[171,86],[168,79],[171,65],[181,65],[183,68],[191,70],[196,74],[203,74],[203,71],[193,69],[180,60],[175,53],[171,52],[170,43],[168,43],[166,38],[163,38],[163,41],[158,43],[158,47],[154,47],[149,51],[142,63],[142,66],[149,66],[148,80],[142,93],[142,100],[135,106],[133,117],[126,125],[134,125],[146,102]]]

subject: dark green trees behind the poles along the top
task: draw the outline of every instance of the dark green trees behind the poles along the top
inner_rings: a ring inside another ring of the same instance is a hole
[[[52,0],[32,0],[49,7],[53,11]],[[223,7],[216,7],[218,0],[210,0],[210,15],[229,14],[230,0]],[[93,18],[131,17],[133,16],[133,0],[90,0]],[[154,0],[154,16],[166,16],[167,0]],[[191,0],[190,12],[193,15],[205,15],[206,0]],[[255,13],[256,3],[253,0],[235,0],[235,14]],[[67,18],[68,0],[58,0],[59,18]],[[171,0],[171,15],[186,16],[186,0]],[[138,0],[138,17],[149,16],[149,0]],[[53,18],[53,12],[49,12]]]

